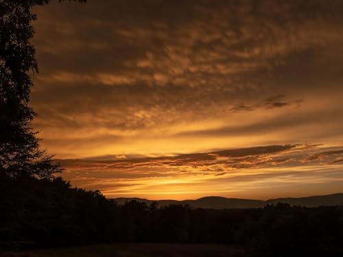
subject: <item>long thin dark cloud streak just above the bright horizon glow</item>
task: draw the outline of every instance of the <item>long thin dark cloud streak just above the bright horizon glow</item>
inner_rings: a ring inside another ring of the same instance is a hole
[[[162,156],[155,158],[120,158],[113,156],[112,160],[56,160],[62,165],[79,169],[88,170],[89,167],[97,167],[97,171],[102,170],[132,170],[141,167],[206,167],[212,164],[227,164],[228,166],[238,167],[239,163],[245,163],[253,166],[261,163],[265,156],[278,154],[283,151],[294,149],[296,145],[270,145],[263,147],[250,147],[244,149],[229,149],[222,151],[213,151],[209,153],[197,154],[178,154],[176,156]],[[222,158],[226,158],[222,160]],[[270,160],[268,160],[270,162]],[[277,160],[276,160],[277,162]],[[283,160],[285,162],[285,160]],[[223,171],[223,169],[215,169]]]

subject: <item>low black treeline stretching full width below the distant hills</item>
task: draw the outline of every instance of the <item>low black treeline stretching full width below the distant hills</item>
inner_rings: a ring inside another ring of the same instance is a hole
[[[343,208],[287,204],[255,209],[119,206],[101,193],[56,180],[1,178],[3,247],[179,242],[242,245],[261,256],[343,253]]]

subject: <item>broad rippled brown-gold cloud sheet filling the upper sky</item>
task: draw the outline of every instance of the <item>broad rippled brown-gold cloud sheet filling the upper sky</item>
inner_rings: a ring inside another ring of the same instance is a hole
[[[342,1],[52,2],[32,94],[51,154],[343,139]]]

